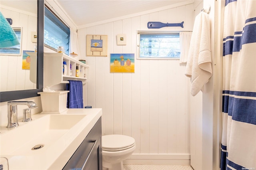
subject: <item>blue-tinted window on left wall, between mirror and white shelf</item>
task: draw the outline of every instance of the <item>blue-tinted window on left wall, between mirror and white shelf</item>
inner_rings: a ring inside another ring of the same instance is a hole
[[[58,49],[63,46],[65,53],[69,54],[70,29],[48,8],[44,8],[44,44],[50,48]]]

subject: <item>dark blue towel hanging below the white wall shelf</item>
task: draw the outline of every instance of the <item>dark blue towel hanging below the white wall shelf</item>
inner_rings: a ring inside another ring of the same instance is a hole
[[[66,90],[69,90],[67,108],[84,108],[82,81],[68,80]]]

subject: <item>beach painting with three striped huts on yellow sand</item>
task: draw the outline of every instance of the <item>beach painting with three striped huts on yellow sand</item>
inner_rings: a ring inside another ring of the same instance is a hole
[[[110,54],[110,73],[134,73],[134,54]]]

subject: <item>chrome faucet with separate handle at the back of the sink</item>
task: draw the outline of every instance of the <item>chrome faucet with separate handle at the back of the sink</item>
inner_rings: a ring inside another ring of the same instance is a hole
[[[23,122],[32,121],[30,109],[37,108],[36,103],[33,101],[9,101],[8,106],[8,125],[7,128],[18,127],[18,111],[17,105],[27,105],[27,109],[23,109]]]

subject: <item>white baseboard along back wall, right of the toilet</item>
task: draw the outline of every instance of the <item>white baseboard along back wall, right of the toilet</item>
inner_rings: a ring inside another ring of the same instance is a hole
[[[190,154],[132,154],[124,164],[190,165]]]

